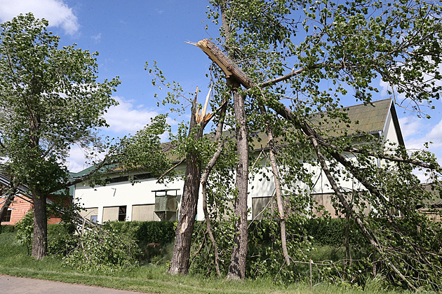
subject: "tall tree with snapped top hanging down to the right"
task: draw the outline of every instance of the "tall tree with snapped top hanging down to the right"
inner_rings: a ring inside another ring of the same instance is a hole
[[[393,283],[400,281],[411,289],[424,285],[440,289],[434,272],[441,268],[442,244],[434,236],[441,233],[441,226],[417,211],[431,195],[422,189],[412,170],[427,170],[437,183],[441,167],[425,151],[410,153],[370,134],[354,136],[347,127],[357,122],[351,122],[342,111],[344,104],[370,104],[380,92],[382,80],[389,84],[388,93],[396,105],[426,116],[423,105],[439,99],[442,90],[440,3],[210,3],[209,18],[222,24],[216,39],[222,50],[209,40],[195,45],[217,65],[212,77],[219,90],[214,102],[218,105],[213,106],[219,107],[224,103],[220,97],[231,93],[227,123],[236,130],[236,234],[227,276],[243,279],[246,275],[244,213],[247,181],[254,165],[247,161],[253,150],[250,134],[267,132],[269,148],[275,148],[272,138],[283,138],[278,152],[270,153],[270,162],[286,202],[296,200],[292,214],[310,205],[307,198],[314,186],[314,171],[319,170],[335,192],[335,207],[356,221],[376,252],[377,264],[387,270]],[[363,144],[367,141],[371,144]],[[359,144],[357,148],[355,144]],[[382,165],[374,164],[373,158],[382,160]],[[300,162],[308,162],[311,169]],[[340,179],[356,181],[361,188],[346,190]],[[218,183],[213,193],[220,186],[227,185]],[[347,200],[349,192],[354,195],[353,203]],[[367,203],[376,208],[375,217],[358,212]],[[279,209],[280,218],[284,218],[282,212]],[[387,228],[383,221],[388,222]],[[285,223],[280,225],[283,235]],[[289,260],[288,254],[284,255]],[[290,266],[288,262],[286,266]]]

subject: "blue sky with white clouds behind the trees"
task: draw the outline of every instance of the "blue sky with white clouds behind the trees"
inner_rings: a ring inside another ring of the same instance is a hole
[[[106,118],[110,127],[105,131],[112,137],[133,134],[158,113],[167,109],[156,107],[151,77],[145,62],[158,62],[168,80],[176,80],[187,91],[199,86],[205,97],[210,60],[195,46],[196,42],[217,35],[204,27],[211,25],[206,18],[208,1],[172,0],[0,0],[0,22],[15,15],[32,11],[37,18],[49,21],[49,30],[61,36],[61,45],[77,43],[84,50],[98,51],[99,77],[120,76],[121,85],[114,94],[119,106],[109,109]],[[386,87],[379,85],[379,99],[387,98]],[[400,97],[398,101],[400,100]],[[396,107],[407,148],[422,148],[433,141],[431,151],[442,158],[442,102],[434,103],[429,111],[431,120],[419,119],[416,113]],[[72,148],[69,169],[77,172],[84,164],[83,152]]]

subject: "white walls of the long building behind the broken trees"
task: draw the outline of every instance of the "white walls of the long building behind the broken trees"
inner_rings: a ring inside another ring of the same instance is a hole
[[[391,111],[387,116],[387,120],[384,126],[384,132],[380,132],[380,136],[388,141],[399,143],[398,134],[396,134],[396,128],[394,126],[394,120],[392,119]],[[354,155],[347,154],[347,158],[355,160]],[[266,162],[262,160],[262,172],[267,175],[270,181],[265,179],[260,179],[262,176],[256,175],[251,176],[249,179],[249,193],[248,193],[248,218],[253,218],[252,203],[255,197],[271,197],[274,195],[274,181],[272,169],[265,165]],[[374,160],[373,163],[376,163]],[[311,194],[327,194],[333,193],[330,188],[330,184],[326,179],[325,174],[321,171],[319,166],[312,166],[309,163],[304,163],[304,167],[314,174],[313,180],[314,187],[307,187],[305,183],[294,183],[293,187],[299,187],[309,191]],[[178,169],[180,172],[184,173],[185,165],[181,165]],[[344,172],[344,167],[341,167],[342,172]],[[360,190],[363,187],[361,184],[349,177],[348,179],[337,179],[339,186],[343,190]],[[103,219],[103,209],[105,207],[120,207],[126,206],[126,221],[132,220],[132,207],[134,205],[140,204],[155,204],[155,193],[154,190],[163,189],[179,189],[178,195],[182,195],[182,188],[184,181],[178,177],[175,181],[171,183],[156,183],[156,179],[145,179],[141,180],[139,183],[132,185],[130,182],[120,182],[120,183],[109,183],[107,186],[95,186],[91,188],[89,186],[84,186],[84,184],[79,184],[76,186],[74,192],[74,202],[81,204],[84,208],[89,209],[88,211],[95,211],[93,209],[98,209],[98,223],[102,222]],[[287,188],[289,190],[295,190],[295,188]],[[201,191],[201,189],[200,189]],[[203,220],[203,210],[202,210],[202,199],[201,193],[199,196],[198,210],[196,214],[196,219],[199,221]]]

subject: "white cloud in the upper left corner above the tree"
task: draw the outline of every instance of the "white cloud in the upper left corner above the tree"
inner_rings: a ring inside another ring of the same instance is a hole
[[[36,18],[45,18],[49,27],[62,27],[66,34],[79,30],[76,16],[62,0],[0,0],[0,21],[12,20],[20,13],[32,12]]]

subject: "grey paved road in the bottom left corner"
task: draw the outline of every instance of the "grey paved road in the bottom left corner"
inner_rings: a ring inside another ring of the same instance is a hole
[[[0,275],[1,293],[20,294],[123,294],[131,291],[115,290],[95,286],[83,286],[72,283],[45,281],[15,276]]]

